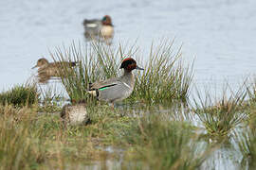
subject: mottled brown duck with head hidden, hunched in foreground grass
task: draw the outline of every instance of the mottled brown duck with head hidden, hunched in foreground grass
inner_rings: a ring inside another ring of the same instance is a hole
[[[86,125],[89,122],[89,116],[85,102],[64,105],[61,111],[61,118],[64,125]]]

